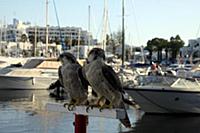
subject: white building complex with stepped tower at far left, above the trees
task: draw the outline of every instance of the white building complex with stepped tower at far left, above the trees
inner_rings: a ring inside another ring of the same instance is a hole
[[[37,41],[46,42],[46,27],[32,26],[30,22],[22,22],[17,19],[13,19],[13,24],[2,25],[0,27],[0,41],[7,42],[20,42],[22,35],[26,35],[27,41],[34,40],[37,37]],[[80,27],[48,27],[48,42],[61,42],[61,36],[65,43],[75,44],[74,42],[80,39],[81,44],[97,44],[97,40],[93,39],[92,35],[82,30]],[[88,42],[90,40],[90,42]],[[31,41],[30,41],[31,42]]]

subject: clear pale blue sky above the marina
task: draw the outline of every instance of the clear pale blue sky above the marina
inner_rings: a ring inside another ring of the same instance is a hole
[[[146,46],[155,37],[168,39],[177,34],[188,39],[200,36],[199,0],[124,0],[125,40],[133,46]],[[0,0],[0,22],[13,18],[45,26],[46,0]],[[60,26],[76,26],[99,39],[102,33],[104,0],[55,0]],[[108,0],[108,34],[121,30],[122,0]],[[49,0],[48,23],[57,26],[53,0]]]

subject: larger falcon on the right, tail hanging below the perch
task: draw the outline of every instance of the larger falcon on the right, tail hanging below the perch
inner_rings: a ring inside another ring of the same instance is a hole
[[[119,77],[112,67],[105,64],[105,52],[100,48],[93,48],[87,58],[87,64],[84,67],[86,78],[92,89],[97,93],[99,100],[106,100],[100,106],[103,108],[121,107],[125,110],[123,89]],[[126,112],[126,118],[120,120],[126,127],[130,127],[130,120]]]

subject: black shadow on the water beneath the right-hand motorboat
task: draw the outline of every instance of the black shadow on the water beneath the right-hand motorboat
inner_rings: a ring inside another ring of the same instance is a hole
[[[199,115],[143,115],[132,132],[196,133],[200,130]]]

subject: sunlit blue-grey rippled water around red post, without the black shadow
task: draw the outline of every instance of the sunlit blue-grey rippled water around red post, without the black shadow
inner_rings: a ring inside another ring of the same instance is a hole
[[[131,116],[132,121],[135,118]],[[31,101],[0,102],[0,133],[74,133],[73,121],[71,113],[37,110]],[[117,133],[122,130],[128,131],[117,119],[89,117],[88,133]]]

